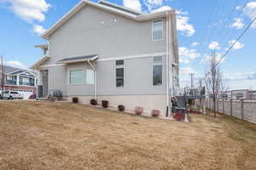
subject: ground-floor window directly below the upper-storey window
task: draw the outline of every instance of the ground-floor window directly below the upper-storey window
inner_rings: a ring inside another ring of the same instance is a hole
[[[162,56],[153,57],[153,85],[160,86],[163,84],[163,63]]]

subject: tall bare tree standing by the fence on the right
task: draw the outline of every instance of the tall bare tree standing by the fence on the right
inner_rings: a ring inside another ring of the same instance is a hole
[[[214,117],[216,117],[217,113],[216,101],[218,99],[218,94],[227,87],[217,63],[217,55],[215,54],[215,52],[212,52],[212,55],[209,58],[210,71],[206,75],[205,84],[207,93],[210,95],[210,98],[212,98],[213,101]]]

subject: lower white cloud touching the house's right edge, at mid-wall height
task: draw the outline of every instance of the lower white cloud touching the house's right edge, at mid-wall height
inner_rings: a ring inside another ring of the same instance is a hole
[[[189,48],[178,48],[179,61],[184,64],[189,64],[193,59],[200,57],[200,54],[197,53],[196,49]]]

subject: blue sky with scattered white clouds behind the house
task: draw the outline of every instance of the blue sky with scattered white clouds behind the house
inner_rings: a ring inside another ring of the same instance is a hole
[[[95,1],[96,2],[96,1]],[[181,85],[206,72],[207,55],[224,54],[256,16],[256,0],[109,0],[145,13],[177,9]],[[79,0],[0,0],[0,54],[8,65],[29,67],[41,56],[39,36]],[[212,16],[212,17],[210,17]],[[256,89],[256,24],[221,63],[230,88]]]

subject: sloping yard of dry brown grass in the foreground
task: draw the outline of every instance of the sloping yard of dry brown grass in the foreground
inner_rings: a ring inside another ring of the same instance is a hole
[[[256,126],[191,123],[86,105],[0,101],[0,169],[256,169]]]

